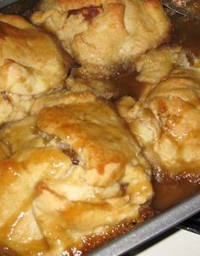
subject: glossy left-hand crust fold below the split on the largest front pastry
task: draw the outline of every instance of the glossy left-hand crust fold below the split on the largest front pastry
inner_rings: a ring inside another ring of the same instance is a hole
[[[25,149],[0,162],[2,244],[13,248],[19,254],[21,251],[24,251],[24,254],[27,251],[33,253],[34,243],[35,250],[40,250],[43,236],[31,209],[36,196],[36,185],[41,179],[64,173],[69,167],[69,162],[68,156],[53,148]]]

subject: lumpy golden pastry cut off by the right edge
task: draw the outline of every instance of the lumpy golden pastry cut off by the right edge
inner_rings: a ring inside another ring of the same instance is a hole
[[[125,97],[119,113],[144,149],[158,180],[200,183],[200,71],[171,71],[136,102]]]

